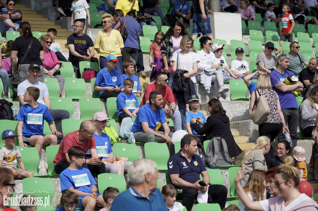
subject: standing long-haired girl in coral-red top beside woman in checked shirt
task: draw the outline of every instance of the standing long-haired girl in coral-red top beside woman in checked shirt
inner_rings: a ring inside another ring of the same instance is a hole
[[[150,74],[150,82],[155,80],[157,73],[162,72],[162,56],[160,55],[160,42],[163,37],[163,32],[158,31],[155,35],[155,39],[150,45],[149,53],[149,66],[152,67],[152,72]],[[152,63],[152,56],[154,57],[154,62]],[[155,67],[153,67],[155,65]]]

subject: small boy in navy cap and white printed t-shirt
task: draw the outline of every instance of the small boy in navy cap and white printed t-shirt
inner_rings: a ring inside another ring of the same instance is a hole
[[[2,140],[5,144],[0,150],[0,166],[9,168],[14,176],[14,179],[24,177],[33,177],[32,171],[27,171],[24,168],[24,163],[21,160],[21,152],[14,145],[16,133],[13,130],[5,130],[2,133]],[[17,162],[21,169],[17,168]]]

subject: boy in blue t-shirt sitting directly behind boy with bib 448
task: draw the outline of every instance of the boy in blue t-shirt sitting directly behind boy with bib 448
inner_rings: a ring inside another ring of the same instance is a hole
[[[126,60],[122,63],[122,66],[124,67],[125,74],[121,75],[121,85],[119,86],[121,91],[124,91],[124,80],[125,79],[131,79],[134,81],[134,89],[132,91],[133,94],[136,95],[136,97],[141,97],[141,85],[139,82],[139,77],[137,75],[134,75],[135,67],[134,62],[130,60]]]

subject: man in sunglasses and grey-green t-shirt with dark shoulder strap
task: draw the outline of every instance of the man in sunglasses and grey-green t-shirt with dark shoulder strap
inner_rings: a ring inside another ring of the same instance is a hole
[[[308,67],[309,63],[305,56],[299,52],[300,46],[298,42],[290,43],[289,48],[290,52],[287,54],[289,56],[289,66],[287,70],[290,70],[294,74],[298,75],[304,68],[303,64]]]

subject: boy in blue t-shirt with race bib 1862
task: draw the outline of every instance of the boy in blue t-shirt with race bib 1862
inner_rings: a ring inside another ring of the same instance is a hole
[[[37,87],[30,86],[26,88],[23,95],[23,101],[26,104],[20,107],[17,114],[17,134],[19,146],[35,146],[39,156],[42,153],[43,145],[57,145],[58,139],[56,135],[62,133],[55,131],[54,119],[50,114],[50,110],[46,105],[38,103],[40,90]],[[52,134],[44,135],[44,120],[48,122]]]

